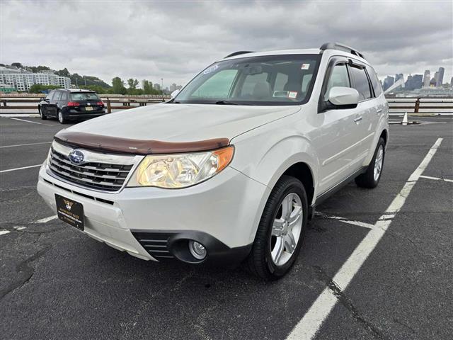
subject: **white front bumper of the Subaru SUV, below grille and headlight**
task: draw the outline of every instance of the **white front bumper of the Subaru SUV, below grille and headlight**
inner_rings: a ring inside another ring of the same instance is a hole
[[[60,181],[42,166],[38,193],[55,212],[55,193],[84,205],[84,232],[109,246],[141,259],[176,257],[195,263],[178,250],[184,244],[181,240],[204,242],[207,261],[243,259],[270,191],[226,167],[189,188],[123,188],[119,193],[101,193]],[[143,241],[156,235],[166,241],[166,248]]]

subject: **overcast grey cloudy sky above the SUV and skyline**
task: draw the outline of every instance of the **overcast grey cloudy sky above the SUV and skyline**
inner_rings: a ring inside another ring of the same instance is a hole
[[[184,84],[237,50],[361,50],[379,77],[453,73],[452,1],[5,1],[0,62]]]

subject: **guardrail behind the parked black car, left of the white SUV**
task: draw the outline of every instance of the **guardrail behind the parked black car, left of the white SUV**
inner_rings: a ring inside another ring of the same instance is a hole
[[[34,106],[25,106],[25,105],[8,105],[10,103],[39,103],[42,98],[39,96],[30,96],[30,97],[21,97],[17,98],[15,96],[0,96],[0,110],[38,110],[38,105]],[[139,97],[139,96],[122,96],[122,97],[105,97],[100,96],[101,100],[105,104],[105,108],[107,108],[107,113],[112,113],[112,110],[127,110],[129,108],[137,108],[138,106],[147,106],[147,104],[156,104],[162,103],[163,99],[168,100],[170,99],[169,96],[154,96],[154,97]],[[115,106],[116,103],[120,103],[120,106]],[[132,105],[132,104],[137,104]],[[113,105],[112,105],[113,104]]]

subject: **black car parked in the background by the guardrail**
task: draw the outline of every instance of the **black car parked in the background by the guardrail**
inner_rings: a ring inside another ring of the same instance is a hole
[[[38,103],[38,111],[41,119],[57,118],[62,124],[105,114],[104,103],[96,92],[83,89],[51,91]]]

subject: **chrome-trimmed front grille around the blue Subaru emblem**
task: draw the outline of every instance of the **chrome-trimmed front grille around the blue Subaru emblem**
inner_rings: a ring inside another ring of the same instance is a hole
[[[125,184],[137,157],[102,154],[81,149],[84,162],[74,164],[69,160],[71,147],[52,143],[48,166],[50,171],[62,179],[79,186],[100,191],[119,191]]]

